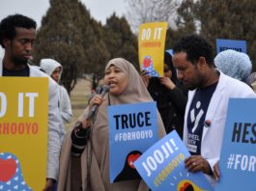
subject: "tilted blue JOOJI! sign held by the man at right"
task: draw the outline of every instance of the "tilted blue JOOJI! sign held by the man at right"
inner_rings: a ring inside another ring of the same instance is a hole
[[[153,191],[213,190],[203,173],[189,173],[185,158],[190,155],[173,130],[145,151],[134,163],[140,176]]]

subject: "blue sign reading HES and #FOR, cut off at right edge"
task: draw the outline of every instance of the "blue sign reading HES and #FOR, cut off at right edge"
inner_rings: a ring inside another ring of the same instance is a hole
[[[215,190],[255,191],[256,99],[231,98]]]

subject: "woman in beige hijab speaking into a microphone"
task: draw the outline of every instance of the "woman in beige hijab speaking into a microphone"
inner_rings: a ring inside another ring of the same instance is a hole
[[[108,137],[109,128],[113,126],[108,123],[108,106],[150,102],[153,99],[140,74],[125,59],[116,58],[108,62],[104,82],[109,88],[109,93],[104,94],[107,92],[104,91],[101,95],[95,95],[78,119],[77,125],[66,135],[60,159],[60,191],[148,190],[140,179],[110,183]],[[95,105],[99,105],[99,108],[92,112]],[[157,124],[160,138],[165,135],[165,130],[159,115]]]

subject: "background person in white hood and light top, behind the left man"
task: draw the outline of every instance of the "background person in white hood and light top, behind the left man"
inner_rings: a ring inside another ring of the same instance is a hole
[[[59,88],[59,104],[61,110],[61,117],[64,123],[71,123],[72,110],[71,99],[67,90],[60,84],[62,66],[53,59],[42,59],[40,67],[47,73],[55,82],[58,83]]]

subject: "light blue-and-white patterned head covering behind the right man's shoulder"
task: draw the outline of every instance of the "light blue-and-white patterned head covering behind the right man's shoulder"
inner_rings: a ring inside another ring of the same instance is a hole
[[[231,49],[218,53],[214,58],[214,64],[226,75],[241,81],[245,81],[252,68],[247,54]]]

